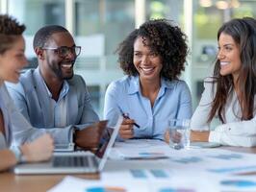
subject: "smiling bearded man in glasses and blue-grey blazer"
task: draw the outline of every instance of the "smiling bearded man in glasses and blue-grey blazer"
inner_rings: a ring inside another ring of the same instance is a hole
[[[51,132],[56,144],[96,147],[105,127],[95,123],[86,83],[73,72],[81,47],[57,25],[39,29],[33,46],[38,68],[22,74],[19,84],[7,84],[15,105],[34,127]]]

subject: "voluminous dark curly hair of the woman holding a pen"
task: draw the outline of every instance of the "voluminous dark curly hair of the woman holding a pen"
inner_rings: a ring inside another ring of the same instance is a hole
[[[118,62],[125,74],[138,75],[133,64],[134,42],[138,37],[147,40],[145,46],[158,54],[162,59],[161,76],[168,80],[176,80],[185,70],[186,57],[189,53],[187,36],[178,26],[166,19],[154,19],[143,23],[134,30],[117,47]],[[145,41],[144,41],[145,42]]]

